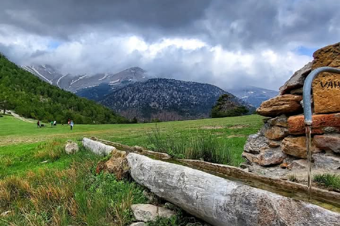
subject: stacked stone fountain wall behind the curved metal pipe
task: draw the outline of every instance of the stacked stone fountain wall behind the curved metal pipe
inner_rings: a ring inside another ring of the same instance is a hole
[[[249,136],[242,156],[251,165],[306,167],[302,86],[310,71],[320,66],[340,68],[340,42],[317,50],[314,60],[296,71],[273,97],[256,109],[265,119],[261,130]],[[340,75],[321,73],[314,79],[313,167],[340,172]]]

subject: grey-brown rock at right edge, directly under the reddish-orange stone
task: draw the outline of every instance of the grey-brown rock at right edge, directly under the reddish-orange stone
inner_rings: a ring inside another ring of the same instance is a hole
[[[316,135],[313,142],[317,148],[340,153],[340,134]]]

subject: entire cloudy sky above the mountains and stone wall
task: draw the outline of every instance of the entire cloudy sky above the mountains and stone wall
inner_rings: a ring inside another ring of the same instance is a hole
[[[339,0],[1,0],[0,52],[62,73],[278,90],[340,39]]]

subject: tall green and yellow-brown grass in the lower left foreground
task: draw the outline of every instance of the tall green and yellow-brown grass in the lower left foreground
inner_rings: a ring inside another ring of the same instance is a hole
[[[45,150],[45,146],[42,148]],[[0,180],[0,213],[14,212],[0,217],[0,225],[128,224],[132,220],[130,206],[147,203],[142,187],[125,180],[118,182],[113,174],[95,174],[100,157],[84,148],[79,152],[81,155],[67,169],[43,168],[25,177]],[[39,153],[38,157],[50,159],[50,153]]]

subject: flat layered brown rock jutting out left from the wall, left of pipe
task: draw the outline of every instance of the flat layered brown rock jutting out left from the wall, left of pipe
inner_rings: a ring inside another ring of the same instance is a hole
[[[280,114],[287,114],[293,112],[301,112],[302,106],[300,101],[302,96],[286,94],[282,96],[273,97],[256,109],[256,112],[262,116],[276,117]]]

